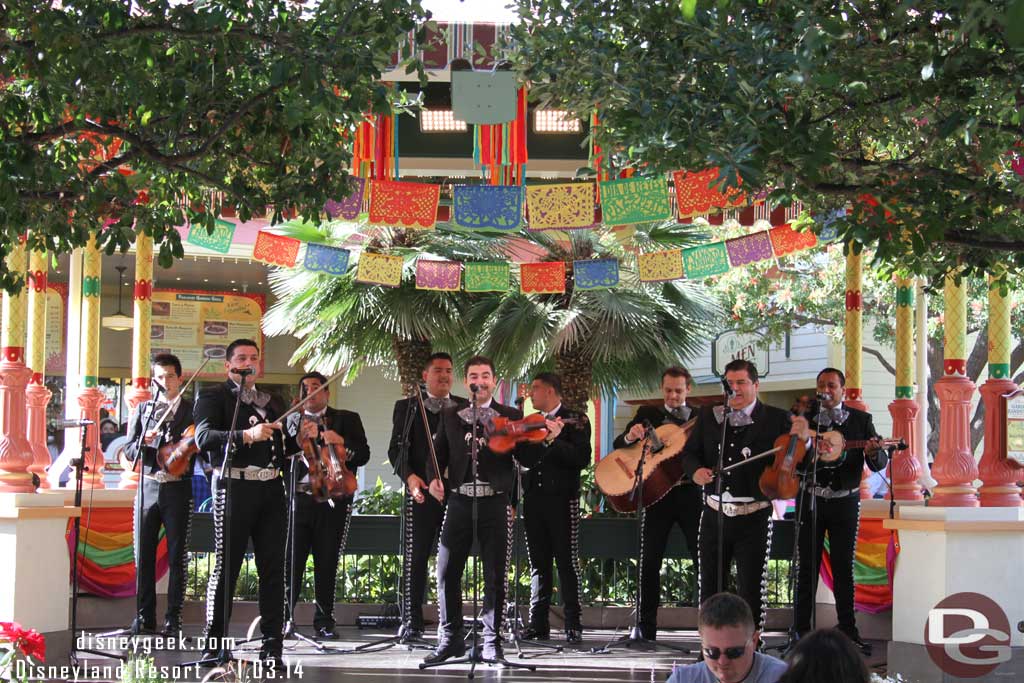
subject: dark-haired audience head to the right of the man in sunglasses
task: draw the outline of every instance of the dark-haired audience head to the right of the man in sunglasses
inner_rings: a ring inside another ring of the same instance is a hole
[[[809,633],[785,658],[790,669],[778,683],[868,683],[871,679],[853,641],[836,629]]]

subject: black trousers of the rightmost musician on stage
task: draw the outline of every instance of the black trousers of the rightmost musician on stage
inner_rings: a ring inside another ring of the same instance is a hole
[[[800,562],[797,573],[797,596],[794,606],[794,629],[797,633],[811,630],[811,610],[821,568],[821,551],[825,532],[828,532],[828,554],[833,567],[833,593],[836,595],[836,615],[839,628],[857,636],[857,623],[853,610],[853,561],[857,549],[857,530],[860,526],[860,496],[854,492],[844,498],[818,498],[817,538],[811,535],[810,495],[800,497]],[[812,545],[813,542],[813,545]],[[812,562],[811,558],[817,558]],[[814,564],[814,573],[811,572]]]

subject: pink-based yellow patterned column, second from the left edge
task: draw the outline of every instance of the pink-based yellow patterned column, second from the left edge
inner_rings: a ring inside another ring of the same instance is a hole
[[[29,443],[32,446],[32,465],[29,471],[39,476],[39,487],[49,488],[46,468],[50,466],[50,451],[46,443],[46,407],[50,390],[44,382],[46,376],[46,273],[49,264],[45,251],[29,255],[29,343],[28,364],[32,371],[29,387],[25,390],[29,409]]]

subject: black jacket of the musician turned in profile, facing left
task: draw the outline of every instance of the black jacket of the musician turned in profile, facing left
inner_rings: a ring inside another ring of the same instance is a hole
[[[555,417],[581,418],[562,405]],[[591,462],[590,423],[565,425],[551,442],[520,443],[516,459],[529,471],[522,476],[526,494],[575,497],[580,495],[580,472]]]

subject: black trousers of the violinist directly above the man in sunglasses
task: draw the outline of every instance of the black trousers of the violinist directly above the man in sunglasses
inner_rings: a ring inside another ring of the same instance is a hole
[[[707,505],[700,515],[700,602],[718,588],[718,515]],[[729,567],[736,561],[735,593],[746,600],[760,630],[765,622],[765,595],[768,586],[768,551],[771,549],[771,507],[749,515],[723,518],[722,588],[729,590]]]

